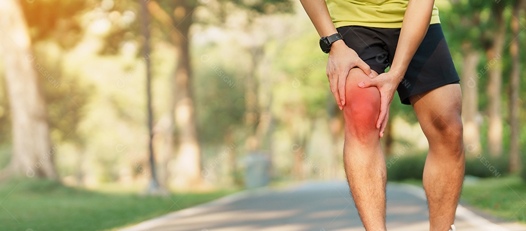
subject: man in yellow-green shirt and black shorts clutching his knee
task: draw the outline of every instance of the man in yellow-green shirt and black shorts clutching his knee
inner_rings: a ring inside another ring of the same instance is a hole
[[[343,162],[363,226],[386,230],[387,170],[380,138],[397,90],[429,142],[423,173],[429,229],[454,231],[464,177],[462,97],[434,0],[301,4],[329,54],[330,89],[345,119]]]

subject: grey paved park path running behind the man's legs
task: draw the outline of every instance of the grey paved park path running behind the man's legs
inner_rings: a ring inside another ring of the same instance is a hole
[[[345,182],[308,182],[245,191],[121,231],[365,230],[348,189]],[[429,230],[420,188],[389,183],[387,199],[389,231]],[[458,231],[526,231],[516,223],[491,223],[462,206],[455,225]]]

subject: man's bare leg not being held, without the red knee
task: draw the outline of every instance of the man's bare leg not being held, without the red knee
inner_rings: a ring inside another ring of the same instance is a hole
[[[464,179],[460,85],[446,85],[410,101],[429,142],[422,180],[430,231],[447,231],[455,219]]]

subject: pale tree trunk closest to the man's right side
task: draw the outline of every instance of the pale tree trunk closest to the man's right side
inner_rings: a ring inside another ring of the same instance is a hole
[[[479,116],[479,76],[477,67],[480,60],[478,51],[472,50],[470,45],[464,50],[462,63],[462,119],[464,120],[464,144],[466,154],[470,157],[481,151]]]

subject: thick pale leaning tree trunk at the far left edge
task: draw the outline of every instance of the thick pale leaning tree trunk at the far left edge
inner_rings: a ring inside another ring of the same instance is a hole
[[[0,0],[0,49],[13,121],[9,172],[57,178],[44,95],[31,57],[31,38],[18,1]],[[28,58],[29,57],[29,58]]]

